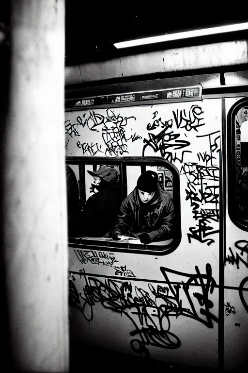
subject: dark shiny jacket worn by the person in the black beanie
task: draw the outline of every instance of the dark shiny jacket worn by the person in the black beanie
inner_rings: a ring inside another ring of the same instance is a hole
[[[140,215],[142,214],[142,215]],[[140,223],[140,217],[143,223]],[[117,228],[122,234],[148,233],[151,241],[162,241],[172,236],[174,228],[175,211],[171,197],[159,186],[149,203],[140,201],[138,188],[124,199],[117,218]]]

